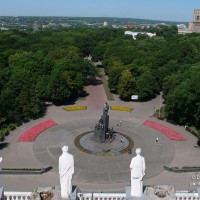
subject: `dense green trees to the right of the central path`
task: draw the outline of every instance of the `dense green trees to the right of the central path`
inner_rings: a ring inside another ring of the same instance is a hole
[[[146,101],[163,91],[166,117],[199,129],[200,34],[178,35],[176,26],[148,31],[157,36],[133,40],[120,30],[101,30],[90,53],[103,61],[109,87],[122,99],[137,94]]]

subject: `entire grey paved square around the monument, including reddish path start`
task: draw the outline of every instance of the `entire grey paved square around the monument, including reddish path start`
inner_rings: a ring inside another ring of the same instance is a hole
[[[125,185],[129,184],[130,160],[135,154],[96,157],[81,153],[73,146],[73,139],[77,134],[93,128],[102,115],[102,107],[106,101],[102,85],[88,86],[86,91],[89,93],[86,101],[77,101],[76,105],[87,105],[87,110],[67,112],[62,109],[63,106],[50,106],[43,118],[23,124],[6,138],[4,142],[8,143],[8,146],[0,150],[0,157],[3,157],[1,167],[42,167],[46,164],[52,164],[54,167],[47,174],[38,176],[0,175],[0,185],[3,185],[6,191],[32,191],[36,187],[59,185],[57,165],[60,147],[64,144],[69,145],[70,152],[75,156],[73,183],[81,190],[124,191]],[[194,173],[175,174],[162,168],[163,164],[199,165],[200,149],[194,147],[196,138],[183,127],[151,117],[159,102],[159,97],[146,103],[122,102],[115,95],[115,101],[108,102],[109,105],[130,106],[134,110],[130,113],[109,110],[111,124],[115,126],[118,121],[122,121],[118,130],[133,138],[134,148],[142,147],[147,163],[144,184],[172,184],[177,190],[195,190],[195,187],[190,187]],[[17,142],[23,131],[47,119],[56,121],[58,125],[42,133],[33,143]],[[187,140],[170,141],[162,133],[143,126],[143,122],[148,119],[180,132]],[[159,143],[155,142],[156,137],[159,138]]]

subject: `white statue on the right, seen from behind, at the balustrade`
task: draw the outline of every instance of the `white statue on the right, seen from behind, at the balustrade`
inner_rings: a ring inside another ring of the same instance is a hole
[[[136,149],[136,156],[132,158],[131,169],[131,196],[141,197],[143,193],[142,178],[145,175],[145,159],[140,155],[141,149]]]

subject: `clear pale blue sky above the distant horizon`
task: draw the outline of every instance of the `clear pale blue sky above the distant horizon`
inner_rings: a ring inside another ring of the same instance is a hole
[[[120,17],[190,22],[200,0],[0,0],[0,16]]]

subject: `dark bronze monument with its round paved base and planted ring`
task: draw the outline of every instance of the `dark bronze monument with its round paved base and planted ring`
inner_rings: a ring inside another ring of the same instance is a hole
[[[78,135],[74,140],[74,144],[81,151],[97,156],[115,156],[125,152],[131,154],[132,139],[114,130],[114,127],[109,128],[109,123],[114,125],[116,122],[109,121],[108,111],[109,105],[105,103],[103,114],[96,123],[95,129]],[[116,126],[121,126],[121,124],[122,122],[119,121]]]

